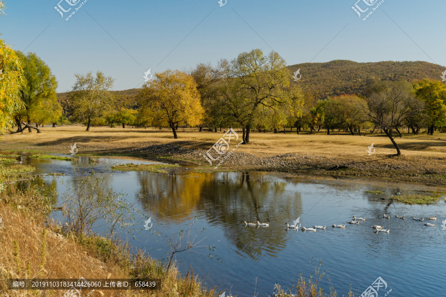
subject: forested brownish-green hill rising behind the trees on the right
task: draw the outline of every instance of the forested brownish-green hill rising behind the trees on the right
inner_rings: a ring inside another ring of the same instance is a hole
[[[342,94],[365,95],[368,85],[376,80],[441,80],[440,76],[446,69],[444,66],[423,61],[358,63],[349,60],[302,63],[288,68],[293,72],[300,68],[302,78],[295,84],[313,93],[317,99]]]

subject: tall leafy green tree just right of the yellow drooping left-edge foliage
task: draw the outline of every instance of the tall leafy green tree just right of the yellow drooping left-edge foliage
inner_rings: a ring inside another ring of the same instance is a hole
[[[25,125],[31,132],[33,128],[31,122],[41,124],[52,117],[51,110],[61,110],[56,97],[57,81],[50,67],[38,55],[33,52],[25,55],[20,51],[17,51],[17,54],[23,67],[25,83],[20,90],[24,108],[17,113],[16,122],[21,130],[22,118],[26,118]],[[55,106],[50,107],[52,104]],[[48,110],[48,107],[51,110]],[[60,113],[56,117],[59,115]],[[40,130],[37,132],[39,133]]]

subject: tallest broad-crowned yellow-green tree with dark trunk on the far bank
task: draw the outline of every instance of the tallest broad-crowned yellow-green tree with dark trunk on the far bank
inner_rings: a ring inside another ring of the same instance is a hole
[[[249,143],[251,129],[264,121],[266,112],[262,109],[270,109],[280,122],[287,106],[295,110],[302,107],[300,90],[289,88],[291,72],[275,51],[268,55],[260,49],[242,52],[230,62],[221,60],[218,69],[221,91],[216,103],[222,115],[232,117],[242,127],[243,144]]]

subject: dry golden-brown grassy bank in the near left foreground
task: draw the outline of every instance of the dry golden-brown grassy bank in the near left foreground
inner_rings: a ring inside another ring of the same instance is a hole
[[[60,290],[8,291],[8,278],[161,279],[159,291],[97,290],[90,296],[190,296],[210,297],[196,277],[180,278],[177,270],[167,271],[162,263],[142,251],[130,254],[125,245],[105,238],[61,234],[55,224],[45,224],[51,210],[48,198],[35,188],[20,192],[8,187],[0,194],[0,295],[61,296]],[[43,295],[40,295],[43,294]]]

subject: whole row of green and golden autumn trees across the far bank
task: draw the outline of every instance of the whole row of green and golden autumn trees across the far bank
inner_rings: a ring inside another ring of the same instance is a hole
[[[40,133],[43,124],[69,121],[84,124],[87,131],[92,125],[165,127],[175,139],[179,127],[215,132],[233,127],[242,130],[243,144],[249,144],[252,131],[295,128],[298,134],[325,129],[330,134],[337,129],[361,135],[378,129],[399,155],[395,137],[403,129],[412,134],[426,129],[432,135],[446,127],[446,87],[441,81],[374,79],[362,90],[364,95],[320,99],[292,82],[292,71],[274,51],[253,49],[215,66],[199,63],[189,71],[157,73],[138,90],[132,108],[116,107],[112,77],[101,71],[75,74],[64,112],[56,97],[56,77],[40,57],[14,51],[0,40],[0,58],[0,125],[3,131],[14,122],[17,130],[12,133],[26,128]]]

